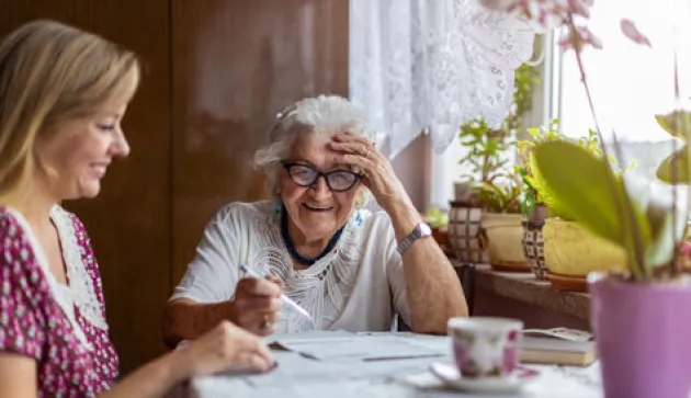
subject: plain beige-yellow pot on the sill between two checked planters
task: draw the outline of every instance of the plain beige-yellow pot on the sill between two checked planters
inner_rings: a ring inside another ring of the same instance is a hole
[[[523,217],[520,214],[483,214],[483,247],[489,263],[502,271],[526,271],[530,266],[523,254]]]

